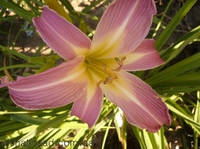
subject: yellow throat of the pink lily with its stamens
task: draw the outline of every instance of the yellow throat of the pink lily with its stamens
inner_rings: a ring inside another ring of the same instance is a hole
[[[107,59],[95,59],[86,56],[85,64],[89,76],[97,80],[98,84],[109,84],[117,79],[117,73],[121,70],[126,57],[115,57]]]

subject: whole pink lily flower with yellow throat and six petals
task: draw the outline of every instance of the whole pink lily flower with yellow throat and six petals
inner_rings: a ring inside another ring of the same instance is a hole
[[[42,39],[67,62],[10,82],[10,97],[24,109],[56,108],[73,102],[71,114],[92,127],[105,95],[129,123],[155,132],[170,125],[166,105],[145,82],[127,71],[163,64],[153,39],[145,39],[156,7],[153,0],[115,0],[91,41],[55,11],[44,7],[33,23]]]

